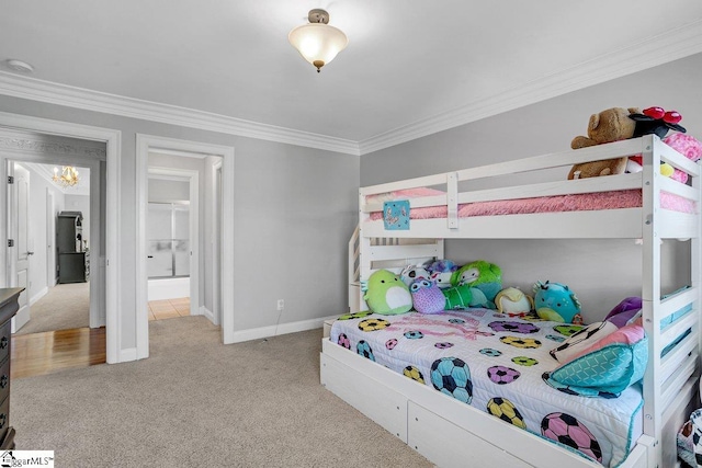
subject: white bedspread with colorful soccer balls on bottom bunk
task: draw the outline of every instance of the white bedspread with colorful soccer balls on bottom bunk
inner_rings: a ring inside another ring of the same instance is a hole
[[[547,385],[544,373],[558,366],[550,350],[582,327],[536,320],[489,309],[356,312],[341,316],[329,339],[448,398],[561,440],[569,449],[578,446],[580,455],[604,466],[620,465],[642,434],[641,386],[630,386],[618,398],[586,398]],[[453,393],[445,390],[448,376],[456,384]]]

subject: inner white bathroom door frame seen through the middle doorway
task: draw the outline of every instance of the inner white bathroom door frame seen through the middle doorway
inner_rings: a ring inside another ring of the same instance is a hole
[[[173,169],[173,168],[160,168],[155,165],[148,165],[148,178],[146,181],[146,204],[148,212],[148,179],[151,175],[159,175],[170,178],[171,180],[188,181],[189,183],[189,199],[190,199],[190,216],[188,218],[188,230],[190,235],[190,315],[196,316],[200,313],[200,229],[197,229],[202,222],[200,219],[200,172],[190,169]],[[145,218],[146,219],[146,218]],[[146,226],[145,226],[146,228]],[[146,232],[146,231],[145,231]],[[145,235],[146,236],[146,235]],[[146,248],[145,237],[144,251],[145,255],[148,253]],[[139,239],[140,241],[140,239]],[[148,274],[147,276],[147,303],[148,303]]]

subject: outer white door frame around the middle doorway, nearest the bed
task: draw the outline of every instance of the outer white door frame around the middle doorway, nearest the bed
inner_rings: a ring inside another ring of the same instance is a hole
[[[148,191],[148,155],[149,151],[180,151],[203,156],[218,156],[223,162],[223,239],[222,263],[229,265],[223,269],[223,315],[222,340],[225,344],[234,343],[234,147],[211,145],[199,141],[181,140],[154,135],[136,134],[136,191],[137,191],[137,248],[136,248],[136,341],[139,358],[149,353],[148,295],[146,274],[146,209]],[[199,247],[200,249],[200,247]],[[202,277],[202,275],[201,275]]]

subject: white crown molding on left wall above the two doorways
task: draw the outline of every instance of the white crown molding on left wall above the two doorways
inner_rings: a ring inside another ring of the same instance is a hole
[[[83,111],[359,156],[355,141],[0,71],[0,94]]]

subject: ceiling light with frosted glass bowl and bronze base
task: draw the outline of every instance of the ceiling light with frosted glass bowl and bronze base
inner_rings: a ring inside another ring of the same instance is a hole
[[[317,67],[317,72],[343,50],[349,44],[347,35],[328,25],[329,13],[325,10],[310,10],[307,15],[309,24],[295,27],[287,35],[287,41],[299,52],[299,55]]]

